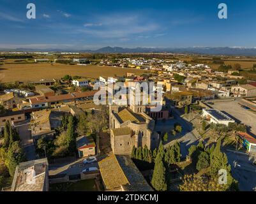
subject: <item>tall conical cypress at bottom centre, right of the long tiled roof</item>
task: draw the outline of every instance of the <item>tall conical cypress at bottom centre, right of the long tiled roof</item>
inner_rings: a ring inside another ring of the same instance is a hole
[[[154,171],[151,184],[156,191],[167,191],[165,166],[163,165],[161,152],[158,152],[154,162]]]

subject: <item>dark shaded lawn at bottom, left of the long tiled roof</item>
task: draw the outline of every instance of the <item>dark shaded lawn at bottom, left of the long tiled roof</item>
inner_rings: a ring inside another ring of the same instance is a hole
[[[64,182],[50,184],[50,191],[97,191],[95,180],[80,180],[78,182]]]

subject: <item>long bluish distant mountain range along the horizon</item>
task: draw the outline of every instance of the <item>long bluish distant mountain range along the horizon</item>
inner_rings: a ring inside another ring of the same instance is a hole
[[[256,48],[244,47],[188,47],[188,48],[123,48],[123,47],[103,47],[98,50],[63,50],[63,49],[34,49],[34,48],[15,48],[1,49],[12,52],[90,52],[90,53],[174,53],[174,54],[209,54],[209,55],[245,55],[256,56]]]

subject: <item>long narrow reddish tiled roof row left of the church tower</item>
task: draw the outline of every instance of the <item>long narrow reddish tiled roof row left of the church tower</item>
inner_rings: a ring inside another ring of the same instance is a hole
[[[57,96],[38,96],[34,98],[30,98],[29,101],[31,105],[36,105],[40,103],[51,103],[57,101],[69,101],[75,100],[79,98],[93,97],[97,91],[86,91],[86,92],[73,92],[71,94],[61,94]]]

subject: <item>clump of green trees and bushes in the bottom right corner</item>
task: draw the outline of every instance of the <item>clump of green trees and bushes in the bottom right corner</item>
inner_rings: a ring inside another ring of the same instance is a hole
[[[186,175],[183,179],[183,184],[179,186],[181,191],[234,191],[237,190],[237,181],[231,175],[231,168],[227,161],[225,153],[221,152],[221,140],[211,148],[204,147],[202,142],[197,146],[192,145],[189,149],[189,156],[192,163],[195,164],[198,171],[207,169],[204,177],[195,175]],[[227,184],[220,186],[218,184],[219,170],[227,171]],[[208,187],[208,188],[207,188]]]

